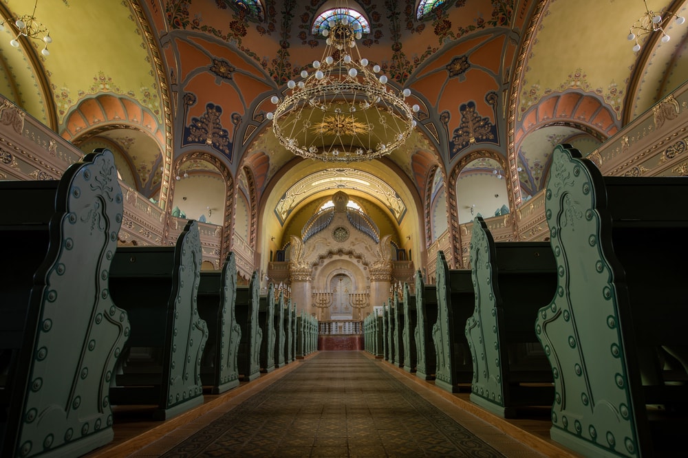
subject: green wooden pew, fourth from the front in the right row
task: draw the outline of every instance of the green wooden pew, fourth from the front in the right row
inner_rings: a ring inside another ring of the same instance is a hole
[[[416,272],[416,377],[433,380],[436,370],[436,352],[432,341],[432,328],[437,323],[437,288],[425,285],[420,270]]]

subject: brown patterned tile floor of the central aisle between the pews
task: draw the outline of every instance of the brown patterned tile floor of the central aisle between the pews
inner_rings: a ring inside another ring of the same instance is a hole
[[[136,457],[541,457],[358,351],[325,351]]]

